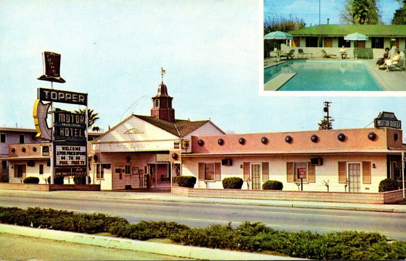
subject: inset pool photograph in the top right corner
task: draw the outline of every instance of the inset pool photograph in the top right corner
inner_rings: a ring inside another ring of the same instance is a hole
[[[406,91],[400,2],[265,0],[263,91]]]

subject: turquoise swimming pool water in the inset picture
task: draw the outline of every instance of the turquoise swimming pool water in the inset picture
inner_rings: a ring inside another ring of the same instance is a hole
[[[264,69],[264,84],[282,73],[296,75],[278,91],[382,91],[361,61],[288,61]]]

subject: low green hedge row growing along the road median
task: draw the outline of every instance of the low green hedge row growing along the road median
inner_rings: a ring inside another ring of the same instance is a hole
[[[404,259],[406,242],[388,242],[378,233],[355,231],[327,234],[287,232],[245,221],[233,228],[212,225],[189,228],[176,222],[141,221],[129,224],[124,218],[104,214],[81,214],[63,210],[0,207],[0,222],[81,233],[110,232],[115,236],[147,240],[169,238],[184,245],[243,251],[277,251],[310,259]]]

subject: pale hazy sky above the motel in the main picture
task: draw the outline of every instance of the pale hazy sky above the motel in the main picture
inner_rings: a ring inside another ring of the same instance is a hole
[[[210,119],[226,132],[317,130],[324,101],[334,129],[373,127],[380,111],[406,122],[397,94],[260,96],[263,12],[256,0],[2,0],[0,126],[35,128],[37,88],[51,87],[37,80],[43,51],[61,54],[66,83],[53,88],[88,93],[105,131],[130,113],[150,115],[161,67],[176,118]]]

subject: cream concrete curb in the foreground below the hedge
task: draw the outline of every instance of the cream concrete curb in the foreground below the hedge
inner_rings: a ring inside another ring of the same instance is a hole
[[[0,224],[0,233],[204,260],[303,260],[286,256],[139,241],[6,224]]]

